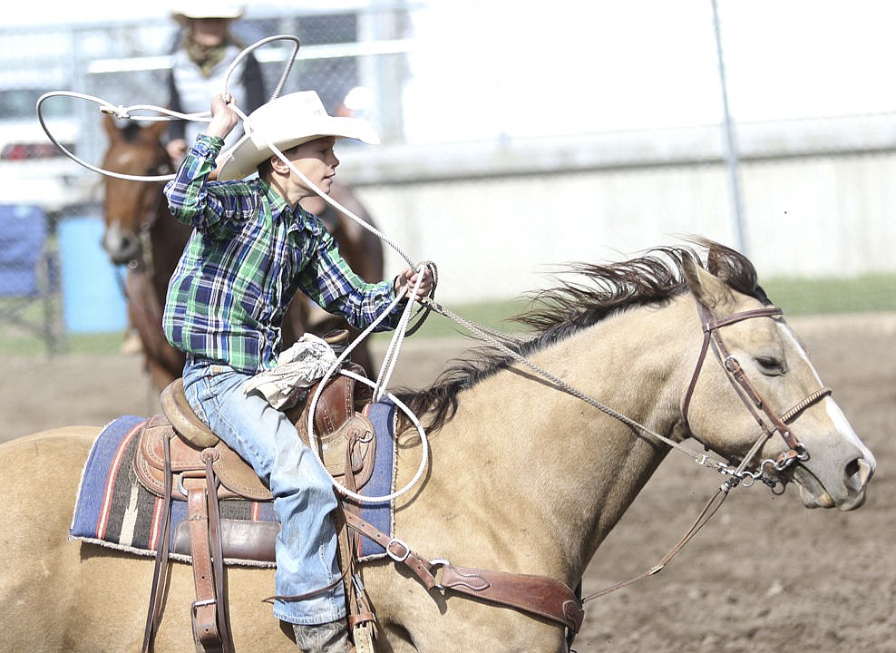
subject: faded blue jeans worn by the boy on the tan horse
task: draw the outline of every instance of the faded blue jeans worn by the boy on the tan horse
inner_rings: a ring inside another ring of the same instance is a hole
[[[227,365],[190,359],[183,385],[193,410],[221,440],[268,483],[280,521],[275,591],[295,596],[320,590],[340,576],[336,528],[330,512],[336,495],[323,465],[299,438],[286,415],[258,393],[245,395],[250,375]],[[335,587],[304,600],[274,603],[274,616],[290,623],[320,624],[346,616],[345,590]]]

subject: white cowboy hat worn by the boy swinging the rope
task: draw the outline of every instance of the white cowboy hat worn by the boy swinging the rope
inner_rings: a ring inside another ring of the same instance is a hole
[[[350,138],[378,145],[379,136],[369,122],[360,118],[334,117],[314,91],[289,93],[262,104],[248,114],[246,133],[218,157],[218,179],[242,179],[258,169],[258,164],[274,155],[269,143],[285,151],[324,136]]]

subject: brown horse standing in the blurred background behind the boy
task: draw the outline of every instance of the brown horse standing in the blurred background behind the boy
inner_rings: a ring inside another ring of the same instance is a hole
[[[160,176],[174,171],[168,152],[161,142],[167,122],[151,122],[141,127],[127,122],[119,127],[110,115],[103,118],[109,137],[109,149],[102,169],[134,176]],[[163,181],[121,180],[104,177],[103,217],[105,231],[102,248],[112,263],[127,265],[125,294],[128,317],[141,340],[145,367],[153,385],[161,390],[183,371],[184,355],[170,346],[161,329],[168,282],[180,254],[190,238],[190,227],[171,217],[162,195]],[[334,184],[334,200],[365,219],[373,220],[364,206],[345,186]],[[315,213],[336,239],[348,264],[365,281],[383,279],[384,257],[380,240],[367,229],[332,209],[324,200],[310,198],[302,206]],[[335,328],[349,328],[341,317],[332,316],[314,305],[301,293],[293,300],[283,323],[283,346],[296,342],[306,332],[322,336]],[[367,374],[375,375],[375,366],[365,343],[353,352],[355,363]]]

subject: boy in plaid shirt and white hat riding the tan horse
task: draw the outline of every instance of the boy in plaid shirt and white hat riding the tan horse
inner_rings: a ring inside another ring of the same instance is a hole
[[[394,282],[365,283],[339,255],[321,222],[299,206],[314,195],[268,143],[325,192],[339,160],[338,138],[375,143],[366,123],[326,114],[317,93],[290,93],[249,115],[251,133],[219,161],[239,116],[221,97],[212,118],[165,187],[171,214],[194,230],[168,289],[162,323],[186,352],[184,390],[193,410],[248,461],[274,496],[281,524],[274,616],[293,624],[299,648],[347,651],[346,607],[330,516],[329,476],[287,417],[243,385],[276,364],[280,323],[298,289],[320,307],[364,329],[397,297],[419,300],[432,288],[428,269],[416,297],[413,268]],[[243,180],[258,171],[257,179]],[[394,328],[402,306],[380,327]]]

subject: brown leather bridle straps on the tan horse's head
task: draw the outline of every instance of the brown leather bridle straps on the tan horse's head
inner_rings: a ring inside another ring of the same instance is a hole
[[[776,307],[755,308],[753,310],[733,313],[732,315],[716,319],[710,315],[709,310],[700,302],[697,302],[697,310],[700,313],[700,321],[703,325],[703,346],[700,349],[700,356],[697,358],[694,375],[691,377],[690,385],[687,386],[685,403],[682,407],[682,414],[684,415],[685,424],[687,425],[688,430],[690,430],[690,426],[687,424],[687,412],[690,407],[691,397],[694,395],[697,378],[699,378],[700,372],[703,369],[703,364],[706,360],[706,352],[709,351],[710,344],[713,344],[715,345],[716,357],[725,369],[728,380],[731,382],[731,385],[734,385],[737,395],[743,400],[745,406],[750,413],[753,414],[756,422],[763,430],[763,435],[755,443],[750,453],[745,457],[742,467],[749,464],[750,459],[755,453],[775,433],[781,435],[784,439],[784,443],[790,447],[788,451],[781,453],[774,461],[774,468],[776,470],[779,472],[784,470],[795,460],[808,460],[809,453],[806,451],[803,444],[796,439],[787,423],[802,414],[809,406],[817,404],[824,397],[831,395],[831,388],[821,387],[784,414],[776,414],[765,402],[762,395],[759,394],[759,391],[756,390],[755,385],[753,385],[750,382],[750,379],[747,378],[743,366],[741,366],[737,358],[735,358],[735,356],[728,350],[719,333],[721,327],[727,327],[736,322],[742,322],[754,317],[779,317],[783,315],[783,311]],[[763,419],[763,415],[765,415],[767,423]]]

